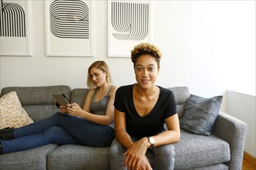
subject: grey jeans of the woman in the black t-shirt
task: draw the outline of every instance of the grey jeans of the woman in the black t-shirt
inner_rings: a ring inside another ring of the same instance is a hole
[[[139,138],[132,137],[133,141],[138,141]],[[119,144],[116,139],[112,141],[110,148],[110,169],[111,170],[125,170],[123,167],[125,157],[123,154],[126,148]],[[148,148],[146,152],[148,161],[154,170],[172,170],[175,166],[175,146],[162,145],[159,147]]]

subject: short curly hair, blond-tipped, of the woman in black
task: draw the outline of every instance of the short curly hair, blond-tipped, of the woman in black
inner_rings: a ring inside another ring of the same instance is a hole
[[[157,46],[154,46],[153,44],[150,44],[147,42],[140,43],[137,46],[134,46],[133,50],[131,50],[131,59],[133,61],[133,67],[137,62],[137,58],[145,54],[153,56],[157,62],[157,66],[160,67],[160,60],[161,60],[160,49],[158,49]]]

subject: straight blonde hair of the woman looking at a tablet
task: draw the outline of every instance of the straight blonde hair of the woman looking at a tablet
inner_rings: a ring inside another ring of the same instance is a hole
[[[108,72],[107,76],[106,76],[106,81],[110,84],[112,84],[112,76],[109,70],[109,66],[106,64],[105,61],[95,61],[94,63],[91,64],[91,66],[89,66],[88,68],[88,74],[87,74],[87,87],[89,88],[93,88],[95,87],[93,81],[92,81],[92,77],[90,75],[90,71],[92,69],[92,67],[95,67],[99,70],[102,70],[103,73]]]

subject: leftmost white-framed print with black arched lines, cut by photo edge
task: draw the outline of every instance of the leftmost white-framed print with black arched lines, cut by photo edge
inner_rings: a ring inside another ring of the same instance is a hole
[[[30,2],[2,0],[0,56],[31,56]]]

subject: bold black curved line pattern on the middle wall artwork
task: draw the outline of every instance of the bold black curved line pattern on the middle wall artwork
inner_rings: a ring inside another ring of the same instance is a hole
[[[50,5],[50,31],[59,38],[89,39],[89,8],[80,0],[55,0]]]

